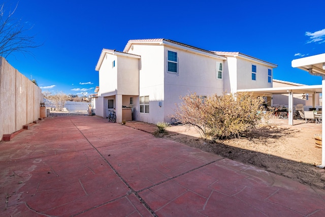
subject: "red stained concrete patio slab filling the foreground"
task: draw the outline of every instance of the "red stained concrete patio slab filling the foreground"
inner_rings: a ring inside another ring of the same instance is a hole
[[[325,216],[325,190],[96,116],[1,142],[0,178],[0,216]]]

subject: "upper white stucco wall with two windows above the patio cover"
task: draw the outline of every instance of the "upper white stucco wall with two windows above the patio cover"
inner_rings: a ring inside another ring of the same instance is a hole
[[[252,80],[252,65],[256,66],[256,80]],[[272,70],[271,83],[268,82],[268,69]],[[237,58],[237,89],[272,87],[273,69],[257,61]]]

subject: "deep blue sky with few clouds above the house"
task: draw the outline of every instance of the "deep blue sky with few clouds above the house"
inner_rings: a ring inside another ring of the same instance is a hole
[[[6,11],[17,1],[5,0]],[[325,52],[325,1],[39,1],[20,0],[14,14],[41,47],[9,63],[42,90],[93,94],[103,48],[165,38],[206,50],[238,51],[277,64],[273,78],[321,84],[291,60]]]

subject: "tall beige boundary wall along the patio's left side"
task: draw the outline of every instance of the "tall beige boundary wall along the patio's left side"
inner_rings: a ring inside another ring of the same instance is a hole
[[[40,117],[42,90],[0,57],[0,138]]]

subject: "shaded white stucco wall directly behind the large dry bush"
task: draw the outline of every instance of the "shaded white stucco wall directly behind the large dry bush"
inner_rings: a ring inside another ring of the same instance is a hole
[[[177,52],[178,73],[167,72],[168,50]],[[216,62],[222,63],[224,66],[224,60],[170,46],[165,46],[164,54],[164,121],[170,122],[169,115],[175,113],[175,103],[180,103],[180,96],[194,94],[194,92],[204,96],[222,94],[225,72],[223,68],[223,78],[217,79]]]

